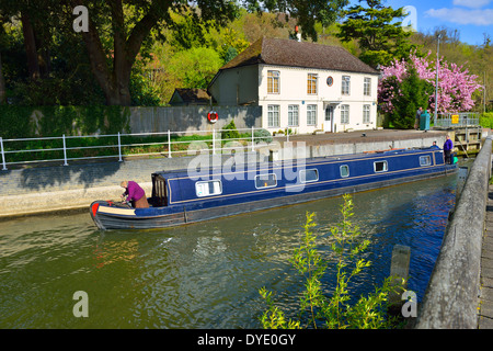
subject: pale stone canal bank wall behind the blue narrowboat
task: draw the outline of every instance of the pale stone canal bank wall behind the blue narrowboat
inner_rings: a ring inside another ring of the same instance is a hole
[[[296,135],[275,138],[254,156],[256,161],[268,157],[270,150],[305,147],[306,156],[323,157],[357,154],[388,148],[442,146],[445,131],[366,131]],[[286,143],[290,144],[286,144]],[[159,170],[187,169],[195,155],[175,158],[134,158],[119,162],[72,162],[69,166],[31,166],[0,171],[0,218],[50,212],[88,208],[94,200],[119,200],[122,180],[138,182],[150,196],[151,173]],[[211,156],[213,157],[213,156]],[[221,162],[231,155],[216,156]],[[245,156],[248,159],[248,155]],[[250,157],[250,159],[252,159]]]

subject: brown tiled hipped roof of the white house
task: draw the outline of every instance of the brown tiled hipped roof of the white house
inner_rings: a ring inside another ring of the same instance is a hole
[[[260,38],[220,69],[256,64],[378,75],[343,47],[268,37]]]

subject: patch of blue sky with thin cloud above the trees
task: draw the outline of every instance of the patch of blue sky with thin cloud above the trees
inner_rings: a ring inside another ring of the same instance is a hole
[[[357,4],[358,0],[351,3]],[[415,24],[419,32],[431,34],[445,26],[459,30],[463,43],[482,45],[483,33],[493,42],[493,0],[383,0],[382,3],[393,9],[412,7],[404,21]]]

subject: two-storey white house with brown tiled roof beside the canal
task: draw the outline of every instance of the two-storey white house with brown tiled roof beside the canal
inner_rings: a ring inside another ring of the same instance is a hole
[[[263,37],[221,67],[208,92],[219,105],[261,105],[270,132],[372,129],[378,75],[342,47]]]

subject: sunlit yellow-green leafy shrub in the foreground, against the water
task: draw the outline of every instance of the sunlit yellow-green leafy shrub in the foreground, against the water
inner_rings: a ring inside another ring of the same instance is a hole
[[[305,236],[302,244],[294,252],[289,261],[305,278],[305,291],[300,298],[299,316],[297,321],[286,319],[285,314],[274,305],[272,293],[265,287],[260,290],[268,309],[261,317],[263,328],[300,328],[301,321],[307,327],[318,328],[391,328],[395,326],[395,319],[386,315],[388,296],[397,287],[391,284],[392,279],[385,280],[382,286],[376,287],[368,296],[360,296],[349,305],[349,283],[370,262],[362,258],[367,249],[369,240],[362,239],[359,228],[351,222],[353,200],[351,195],[344,195],[344,204],[341,206],[342,220],[331,228],[333,238],[332,251],[336,261],[336,284],[331,297],[323,294],[322,278],[325,274],[329,262],[323,260],[317,249],[317,235],[312,228],[314,213],[307,213],[307,222],[303,226]]]

